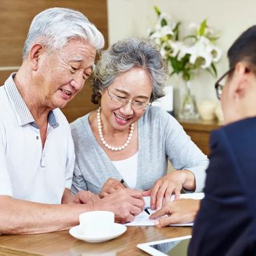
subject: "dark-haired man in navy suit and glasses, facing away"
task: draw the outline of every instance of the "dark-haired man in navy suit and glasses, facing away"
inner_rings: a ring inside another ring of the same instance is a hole
[[[215,84],[225,126],[210,138],[191,256],[256,255],[256,26],[236,39],[228,58],[230,69]]]

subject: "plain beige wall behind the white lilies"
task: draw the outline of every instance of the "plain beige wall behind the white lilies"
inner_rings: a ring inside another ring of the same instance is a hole
[[[128,36],[147,36],[147,29],[156,20],[154,5],[182,21],[184,29],[190,22],[199,23],[208,18],[208,24],[222,32],[219,46],[224,57],[217,64],[219,75],[228,68],[226,55],[231,43],[244,29],[256,23],[255,0],[107,0],[109,43]],[[216,100],[214,81],[205,72],[192,82],[192,93],[197,102]],[[177,88],[177,79],[168,82]],[[177,109],[177,100],[175,105]]]

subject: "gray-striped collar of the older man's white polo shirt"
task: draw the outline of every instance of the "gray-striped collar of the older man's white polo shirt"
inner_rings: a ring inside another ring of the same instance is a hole
[[[29,108],[27,107],[25,101],[22,99],[18,88],[16,87],[16,85],[13,81],[14,76],[15,76],[15,73],[13,73],[13,74],[11,74],[11,76],[9,76],[9,78],[4,83],[4,88],[9,97],[9,100],[11,100],[11,103],[12,103],[13,107],[15,108],[15,112],[18,116],[18,123],[20,126],[24,126],[27,123],[30,123],[35,128],[39,128],[39,126],[34,121],[34,117],[32,116],[31,112],[29,111]],[[59,126],[52,110],[48,114],[48,123],[53,128],[57,128]]]

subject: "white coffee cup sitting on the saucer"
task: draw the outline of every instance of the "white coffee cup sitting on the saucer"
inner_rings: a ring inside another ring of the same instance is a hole
[[[95,210],[79,215],[79,227],[85,236],[99,237],[112,233],[114,213],[107,210]]]

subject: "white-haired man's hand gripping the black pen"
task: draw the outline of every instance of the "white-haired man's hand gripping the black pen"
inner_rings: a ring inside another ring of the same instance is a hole
[[[110,210],[115,214],[116,222],[131,222],[144,207],[142,192],[133,189],[119,189],[96,201],[94,210]]]

